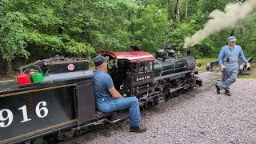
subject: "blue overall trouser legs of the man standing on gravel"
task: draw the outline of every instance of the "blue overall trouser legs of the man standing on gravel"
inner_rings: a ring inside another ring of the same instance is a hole
[[[230,85],[232,85],[238,78],[238,64],[225,65],[226,70],[222,71],[222,82],[218,83],[218,87],[221,90],[229,90]]]

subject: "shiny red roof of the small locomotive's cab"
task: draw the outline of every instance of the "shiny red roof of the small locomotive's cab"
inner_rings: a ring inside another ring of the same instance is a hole
[[[127,51],[127,52],[110,52],[102,51],[101,54],[106,54],[116,59],[127,59],[130,62],[147,62],[154,61],[154,56],[145,51]]]

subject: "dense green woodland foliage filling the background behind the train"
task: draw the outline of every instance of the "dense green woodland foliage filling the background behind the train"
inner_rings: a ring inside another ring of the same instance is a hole
[[[202,29],[212,10],[237,0],[1,0],[0,68],[56,54],[94,56],[99,50],[129,50],[137,45],[154,53]],[[256,54],[256,14],[236,27],[211,35],[191,48],[197,57],[216,57],[234,33],[247,56]]]

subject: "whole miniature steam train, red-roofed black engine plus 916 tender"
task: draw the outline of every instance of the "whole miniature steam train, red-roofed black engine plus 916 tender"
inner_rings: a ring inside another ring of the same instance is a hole
[[[124,97],[136,96],[142,109],[202,86],[194,58],[175,58],[165,50],[158,50],[154,58],[136,46],[132,48],[101,54],[110,57],[108,73],[116,89]],[[42,82],[0,90],[0,143],[56,143],[128,118],[126,110],[96,110],[88,61],[37,61],[22,69],[38,67],[47,73]]]

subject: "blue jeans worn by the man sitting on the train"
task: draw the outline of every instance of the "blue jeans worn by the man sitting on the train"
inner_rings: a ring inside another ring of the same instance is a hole
[[[105,102],[97,102],[97,108],[102,112],[129,109],[130,126],[141,125],[141,113],[139,111],[138,98],[136,97],[112,98]]]

